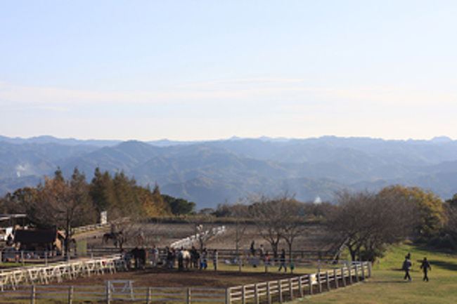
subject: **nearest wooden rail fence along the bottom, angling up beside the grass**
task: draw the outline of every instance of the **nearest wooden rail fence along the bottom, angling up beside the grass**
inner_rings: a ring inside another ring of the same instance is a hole
[[[260,282],[227,289],[182,288],[182,287],[136,287],[114,288],[110,281],[106,286],[15,286],[0,292],[2,298],[30,300],[47,299],[56,303],[72,304],[76,300],[98,300],[107,304],[117,303],[225,303],[260,304],[284,303],[330,291],[371,277],[371,263],[347,264],[343,267],[317,272],[311,275]],[[127,285],[126,285],[127,286]]]

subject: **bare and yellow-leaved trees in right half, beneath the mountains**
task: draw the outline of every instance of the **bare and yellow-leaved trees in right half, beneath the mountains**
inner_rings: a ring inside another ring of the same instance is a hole
[[[237,236],[243,233],[240,224],[249,218],[275,257],[281,239],[288,244],[291,257],[292,243],[307,233],[307,223],[312,219],[318,219],[335,239],[340,239],[352,260],[373,261],[383,256],[388,244],[404,239],[457,249],[457,194],[442,201],[420,187],[392,185],[379,192],[344,190],[335,193],[334,204],[303,203],[288,195],[258,196],[247,199],[247,204],[225,203],[205,212],[236,218]]]

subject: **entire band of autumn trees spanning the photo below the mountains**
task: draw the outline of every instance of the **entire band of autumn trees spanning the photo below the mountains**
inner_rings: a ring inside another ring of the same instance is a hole
[[[288,194],[251,195],[236,204],[225,202],[196,213],[192,201],[161,194],[157,184],[152,190],[137,185],[122,171],[112,176],[96,168],[87,183],[77,168],[69,179],[58,168],[37,187],[20,188],[0,198],[0,211],[25,213],[36,227],[63,230],[66,249],[72,228],[96,223],[101,211],[108,211],[110,221],[186,215],[193,218],[195,227],[201,218],[206,222],[229,218],[236,226],[237,251],[247,223],[254,223],[275,257],[281,240],[288,244],[291,257],[293,242],[308,233],[310,220],[326,225],[335,239],[344,242],[353,260],[374,260],[388,244],[406,238],[457,249],[457,194],[442,201],[431,191],[400,185],[379,192],[337,192],[333,204],[301,202]]]

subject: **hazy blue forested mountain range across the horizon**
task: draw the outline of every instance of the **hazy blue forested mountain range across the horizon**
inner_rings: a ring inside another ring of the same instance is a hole
[[[90,181],[94,169],[124,171],[141,185],[195,201],[198,209],[252,193],[333,200],[337,190],[380,190],[392,184],[457,192],[457,141],[230,138],[204,142],[8,138],[0,136],[0,195],[36,186],[60,166]]]

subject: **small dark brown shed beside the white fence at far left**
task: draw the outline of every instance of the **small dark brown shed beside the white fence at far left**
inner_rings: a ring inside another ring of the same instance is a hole
[[[54,251],[61,254],[65,234],[59,230],[15,230],[14,242],[20,250],[25,251]]]

